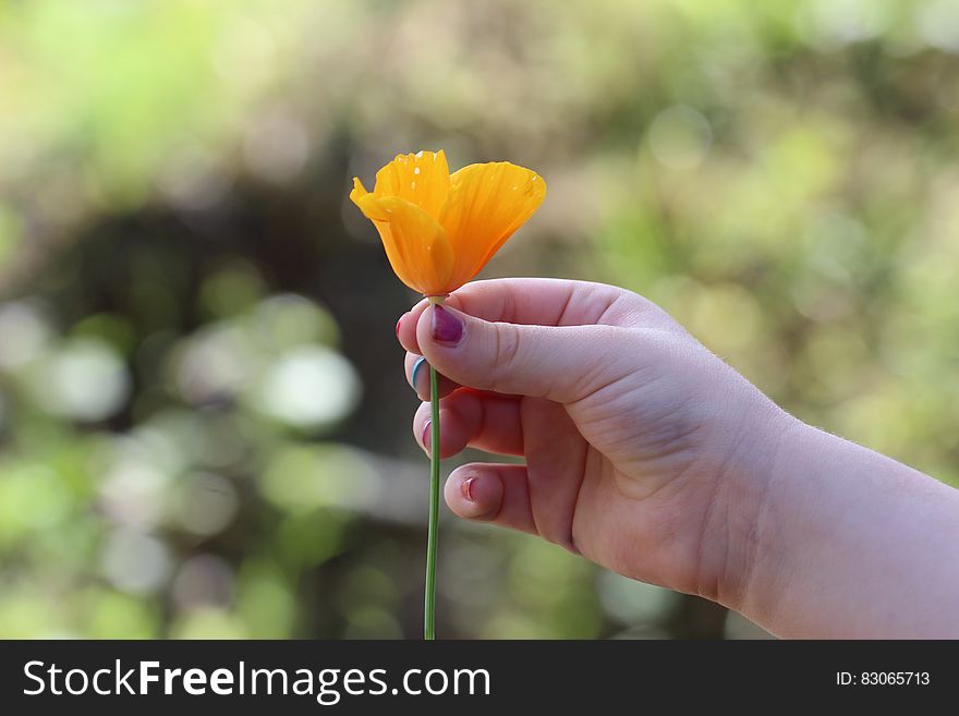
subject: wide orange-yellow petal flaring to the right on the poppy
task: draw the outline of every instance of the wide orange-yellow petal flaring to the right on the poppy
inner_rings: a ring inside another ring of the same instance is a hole
[[[439,221],[457,255],[451,284],[480,272],[546,196],[536,172],[508,161],[463,167],[450,177],[450,194]]]

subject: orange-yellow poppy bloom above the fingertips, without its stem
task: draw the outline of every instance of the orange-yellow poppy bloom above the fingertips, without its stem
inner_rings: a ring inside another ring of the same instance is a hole
[[[452,174],[442,150],[397,155],[373,193],[353,179],[350,198],[373,221],[400,280],[446,295],[480,272],[546,196],[536,172],[508,161]]]

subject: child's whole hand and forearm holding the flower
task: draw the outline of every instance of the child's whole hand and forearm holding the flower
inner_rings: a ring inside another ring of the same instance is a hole
[[[959,636],[959,492],[801,423],[629,291],[476,281],[398,338],[442,374],[458,515],[699,594],[791,638]],[[456,332],[456,331],[453,331]],[[440,331],[442,335],[444,331]],[[428,400],[428,372],[414,386]],[[428,452],[429,405],[413,420]]]

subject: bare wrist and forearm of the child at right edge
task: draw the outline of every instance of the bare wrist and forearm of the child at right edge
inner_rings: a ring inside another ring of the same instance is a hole
[[[799,421],[774,454],[730,606],[782,636],[956,633],[959,493]]]

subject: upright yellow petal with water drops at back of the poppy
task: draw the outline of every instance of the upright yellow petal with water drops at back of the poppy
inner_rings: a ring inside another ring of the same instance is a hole
[[[377,198],[398,196],[418,206],[434,219],[450,191],[449,166],[442,149],[437,153],[400,154],[376,172]]]

